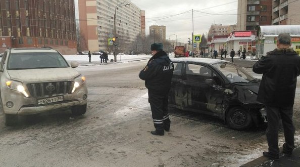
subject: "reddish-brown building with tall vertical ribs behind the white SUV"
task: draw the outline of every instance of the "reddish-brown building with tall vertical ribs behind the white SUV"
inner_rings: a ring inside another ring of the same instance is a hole
[[[51,47],[76,54],[74,1],[1,0],[0,52],[10,47]]]

